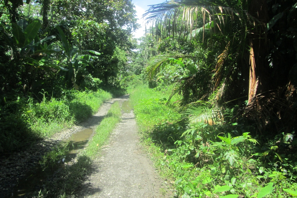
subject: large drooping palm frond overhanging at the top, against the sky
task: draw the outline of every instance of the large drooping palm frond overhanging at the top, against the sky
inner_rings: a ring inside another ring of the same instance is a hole
[[[248,5],[244,7],[239,7],[238,5],[234,2],[232,5],[226,6],[223,1],[221,3],[214,3],[195,0],[171,0],[161,4],[151,5],[146,13],[143,14],[143,17],[146,17],[147,23],[151,23],[152,25],[162,23],[161,30],[169,33],[172,31],[173,35],[174,31],[176,31],[176,34],[178,33],[177,31],[180,34],[182,32],[177,29],[177,20],[180,17],[185,21],[186,29],[190,32],[190,35],[192,35],[193,29],[198,28],[197,24],[202,23],[204,39],[207,23],[213,24],[211,31],[228,34],[228,32],[234,29],[234,27],[228,28],[229,24],[236,21],[236,24],[241,24],[241,29],[245,29],[245,32],[247,32],[247,24],[255,24],[256,20],[246,11],[248,10]],[[236,25],[236,27],[239,26]]]

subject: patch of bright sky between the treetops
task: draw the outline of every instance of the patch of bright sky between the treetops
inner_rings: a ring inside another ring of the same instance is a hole
[[[138,23],[142,26],[137,31],[133,33],[135,38],[142,37],[145,30],[145,21],[142,19],[142,15],[145,13],[147,9],[149,9],[148,5],[154,5],[163,3],[166,0],[150,0],[150,1],[141,1],[141,0],[132,0],[132,3],[135,5],[135,9],[137,11],[136,15],[138,18]]]

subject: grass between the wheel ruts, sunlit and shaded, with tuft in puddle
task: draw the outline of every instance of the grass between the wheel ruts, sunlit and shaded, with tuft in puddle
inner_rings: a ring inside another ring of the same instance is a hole
[[[95,129],[95,135],[89,140],[84,150],[79,151],[77,160],[71,166],[58,170],[52,180],[45,183],[40,197],[67,197],[76,194],[80,189],[83,179],[91,171],[92,159],[97,156],[98,151],[104,145],[110,136],[110,133],[120,121],[121,109],[119,102],[111,105],[107,115],[102,119],[99,126]],[[64,158],[68,152],[69,145],[62,144],[51,151],[45,160],[47,165],[53,165],[58,160]]]

